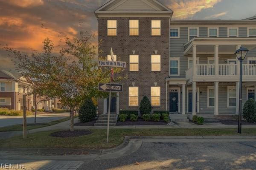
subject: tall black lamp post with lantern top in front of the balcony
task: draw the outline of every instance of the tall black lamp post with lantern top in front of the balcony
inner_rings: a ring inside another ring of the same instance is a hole
[[[236,57],[240,62],[238,133],[242,133],[241,132],[241,127],[242,127],[242,75],[243,75],[242,63],[243,63],[243,60],[245,59],[248,51],[249,50],[247,48],[240,47],[235,52]]]

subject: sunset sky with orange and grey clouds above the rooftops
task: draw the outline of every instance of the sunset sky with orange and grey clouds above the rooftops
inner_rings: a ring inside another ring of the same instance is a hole
[[[256,0],[159,0],[174,11],[172,19],[243,19],[256,15]],[[61,37],[79,30],[97,35],[93,11],[108,0],[0,0],[0,48],[5,45],[40,51],[49,37],[58,45]],[[0,68],[12,65],[0,50]]]

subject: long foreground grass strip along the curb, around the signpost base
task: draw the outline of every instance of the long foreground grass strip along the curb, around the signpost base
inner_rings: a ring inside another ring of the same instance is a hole
[[[93,129],[93,133],[73,138],[59,138],[49,136],[58,130],[37,132],[28,135],[24,140],[22,136],[10,139],[1,139],[0,147],[26,147],[26,148],[83,148],[107,149],[116,147],[123,142],[125,136],[209,136],[209,135],[256,135],[256,128],[243,128],[243,133],[236,133],[236,129],[111,129],[109,143],[106,143],[106,132],[103,129]]]

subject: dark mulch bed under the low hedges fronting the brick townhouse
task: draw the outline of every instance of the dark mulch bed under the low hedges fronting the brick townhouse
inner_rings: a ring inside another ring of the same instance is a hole
[[[160,120],[159,122],[153,122],[153,121],[144,121],[143,119],[138,119],[135,122],[132,122],[131,120],[126,120],[125,122],[118,121],[116,123],[116,126],[126,126],[126,125],[168,125],[168,123],[163,122],[163,120]]]

